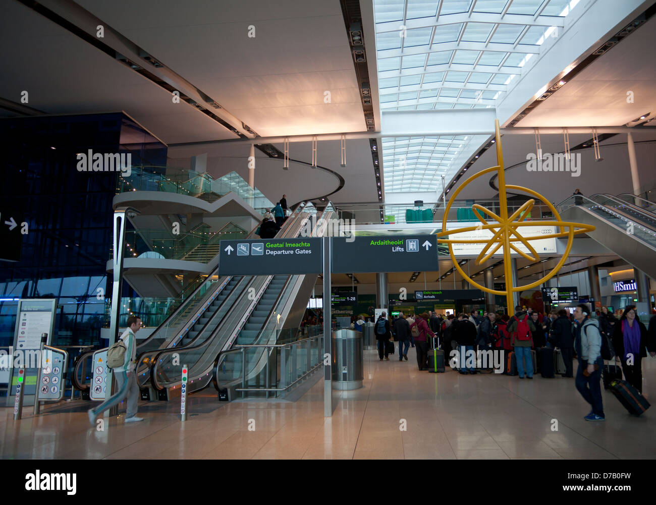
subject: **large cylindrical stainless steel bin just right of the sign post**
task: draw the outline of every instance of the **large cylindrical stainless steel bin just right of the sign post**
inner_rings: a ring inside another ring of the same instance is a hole
[[[333,331],[333,389],[362,387],[364,361],[362,333],[350,329]]]

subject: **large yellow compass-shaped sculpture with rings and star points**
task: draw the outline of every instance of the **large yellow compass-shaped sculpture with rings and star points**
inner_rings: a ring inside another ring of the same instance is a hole
[[[523,188],[523,186],[514,186],[512,184],[506,185],[506,178],[505,178],[504,167],[503,167],[503,153],[501,149],[501,133],[499,132],[498,119],[495,120],[495,138],[496,138],[496,145],[497,145],[497,166],[490,167],[489,169],[485,169],[481,172],[478,172],[478,174],[471,176],[461,184],[461,186],[456,190],[455,193],[453,193],[451,199],[449,199],[449,204],[447,205],[444,211],[444,218],[442,220],[442,231],[438,233],[437,236],[438,236],[439,243],[446,243],[449,245],[449,255],[451,256],[453,265],[458,270],[458,272],[460,272],[460,274],[462,275],[462,278],[467,279],[467,281],[470,284],[478,287],[478,289],[482,289],[487,293],[505,294],[506,303],[508,304],[508,314],[512,315],[513,313],[512,311],[514,310],[513,293],[517,293],[519,291],[524,291],[525,289],[532,289],[534,287],[537,287],[542,283],[544,283],[545,281],[548,281],[548,279],[551,279],[551,277],[553,277],[554,275],[556,275],[556,273],[558,273],[558,270],[560,270],[560,268],[562,268],[562,266],[565,264],[565,260],[567,260],[567,256],[569,256],[569,251],[571,251],[574,235],[576,235],[577,233],[592,232],[594,231],[594,226],[590,226],[588,224],[581,224],[581,223],[564,222],[560,218],[560,214],[558,214],[558,211],[556,211],[556,207],[554,207],[552,203],[550,203],[540,193],[530,190],[529,188]],[[486,209],[482,205],[476,204],[472,206],[472,211],[474,212],[478,220],[480,220],[481,224],[479,224],[478,226],[468,226],[466,228],[458,228],[457,230],[447,230],[447,218],[449,216],[449,211],[451,210],[451,205],[453,205],[453,202],[455,201],[458,194],[467,186],[467,184],[472,182],[474,179],[478,177],[482,177],[490,172],[497,172],[497,176],[499,180],[499,214],[501,215],[498,216],[497,214],[495,214],[495,212]],[[535,205],[535,199],[531,199],[527,201],[522,205],[522,207],[520,207],[520,209],[508,215],[508,199],[506,197],[506,190],[524,192],[543,201],[546,204],[546,206],[550,209],[550,211],[553,213],[555,219],[552,221],[539,221],[537,223],[525,222],[524,220],[526,216],[529,215],[529,212],[531,211],[531,209],[533,209],[533,205]],[[479,211],[483,212],[483,215],[481,215]],[[525,226],[536,226],[536,224],[539,224],[540,226],[556,226],[560,229],[560,232],[551,233],[549,235],[537,235],[533,237],[522,236],[522,234],[519,231],[521,228]],[[451,239],[451,238],[440,239],[440,237],[457,235],[458,233],[464,233],[464,232],[471,232],[472,230],[490,230],[493,233],[493,236],[491,239],[464,239],[464,240]],[[522,255],[527,260],[530,260],[532,262],[539,261],[540,256],[531,245],[531,241],[537,239],[547,239],[552,237],[567,237],[567,247],[565,248],[565,253],[563,253],[563,257],[560,259],[558,264],[553,268],[553,270],[551,270],[551,272],[544,275],[544,277],[542,279],[539,279],[538,281],[523,286],[513,286],[512,267],[510,265],[510,258],[511,258],[510,254],[514,251],[515,253]],[[518,242],[525,245],[525,247],[529,250],[530,254],[526,254],[525,252],[518,249],[518,247],[515,245],[515,243]],[[487,288],[470,279],[470,277],[466,275],[466,273],[464,273],[464,271],[458,264],[458,261],[455,258],[455,254],[453,254],[453,244],[455,243],[485,244],[483,246],[483,250],[476,258],[477,265],[480,265],[483,262],[487,261],[489,258],[491,258],[491,256],[493,256],[493,254],[497,253],[499,249],[503,248],[503,266],[506,275],[506,291],[498,291],[496,289]]]

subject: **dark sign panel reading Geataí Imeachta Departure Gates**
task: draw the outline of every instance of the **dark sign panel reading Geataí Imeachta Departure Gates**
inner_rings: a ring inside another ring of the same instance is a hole
[[[321,273],[321,239],[220,241],[218,275]]]

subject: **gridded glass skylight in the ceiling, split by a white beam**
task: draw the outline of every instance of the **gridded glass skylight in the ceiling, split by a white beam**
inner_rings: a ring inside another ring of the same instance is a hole
[[[374,0],[380,109],[495,107],[556,40],[578,3]],[[441,191],[441,176],[448,182],[485,140],[383,139],[384,190]]]

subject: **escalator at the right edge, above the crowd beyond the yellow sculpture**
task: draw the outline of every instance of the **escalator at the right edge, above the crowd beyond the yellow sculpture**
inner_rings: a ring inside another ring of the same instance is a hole
[[[556,208],[565,221],[591,224],[588,236],[650,277],[656,277],[656,214],[628,195],[571,196]],[[639,199],[642,200],[642,199]]]

